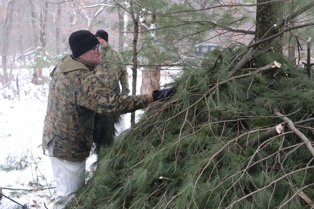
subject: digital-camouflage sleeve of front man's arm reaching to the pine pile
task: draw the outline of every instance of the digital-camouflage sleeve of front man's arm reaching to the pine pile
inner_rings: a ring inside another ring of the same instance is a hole
[[[126,96],[117,94],[94,74],[87,71],[77,72],[78,105],[106,115],[120,115],[144,108],[148,95]]]

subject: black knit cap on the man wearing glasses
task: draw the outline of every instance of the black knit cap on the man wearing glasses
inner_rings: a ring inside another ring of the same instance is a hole
[[[70,35],[69,44],[73,57],[78,57],[99,44],[99,41],[88,30],[78,30]]]

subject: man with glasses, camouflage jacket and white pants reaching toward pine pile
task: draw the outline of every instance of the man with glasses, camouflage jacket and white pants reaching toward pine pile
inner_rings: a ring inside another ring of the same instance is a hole
[[[73,55],[67,55],[51,72],[48,104],[44,120],[42,148],[48,150],[55,175],[55,201],[68,201],[84,183],[95,113],[123,114],[145,107],[149,102],[169,97],[171,89],[153,94],[125,96],[108,88],[94,75],[101,62],[101,44],[87,30],[69,37]],[[63,208],[55,204],[55,208]]]

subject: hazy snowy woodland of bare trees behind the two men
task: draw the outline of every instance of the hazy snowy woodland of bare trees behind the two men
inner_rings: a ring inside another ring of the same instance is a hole
[[[1,83],[14,88],[12,81],[17,78],[13,72],[28,68],[34,71],[33,82],[42,84],[42,68],[51,68],[69,52],[68,37],[73,31],[105,29],[109,44],[122,53],[123,64],[134,69],[133,76],[142,70],[148,78],[141,88],[141,93],[147,93],[159,87],[161,69],[186,65],[184,58],[195,56],[199,44],[228,47],[252,43],[255,35],[259,39],[278,24],[279,16],[304,6],[287,0],[171,3],[176,11],[167,10],[167,1],[2,0]],[[311,8],[311,2],[307,7]],[[289,28],[279,37],[281,45],[274,48],[284,50],[298,64],[306,59],[306,41],[312,33],[309,8],[290,15],[284,23]]]

